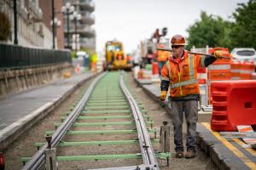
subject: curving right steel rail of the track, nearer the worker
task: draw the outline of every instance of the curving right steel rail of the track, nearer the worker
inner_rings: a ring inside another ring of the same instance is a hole
[[[143,120],[143,114],[140,111],[136,100],[132,97],[131,93],[125,86],[125,82],[123,79],[123,72],[119,79],[119,85],[123,90],[126,99],[131,105],[131,111],[134,116],[134,120],[136,122],[140,149],[143,156],[143,165],[145,165],[146,167],[148,166],[150,169],[160,169],[158,162],[156,160],[156,156],[154,155],[154,150],[150,141],[150,136],[148,134],[146,124]]]

